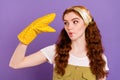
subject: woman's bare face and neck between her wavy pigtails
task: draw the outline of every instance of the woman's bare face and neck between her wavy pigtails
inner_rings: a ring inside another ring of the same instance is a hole
[[[77,57],[86,56],[86,42],[85,42],[85,29],[86,26],[79,16],[73,12],[68,13],[64,17],[65,30],[72,40],[72,50],[70,54]]]

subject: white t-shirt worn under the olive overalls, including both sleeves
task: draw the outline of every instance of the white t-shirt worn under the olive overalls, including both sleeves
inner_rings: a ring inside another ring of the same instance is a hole
[[[55,44],[45,47],[45,48],[41,49],[40,51],[48,59],[50,64],[54,64]],[[106,56],[103,55],[103,58],[106,61],[105,70],[109,70]],[[68,64],[75,65],[75,66],[90,67],[89,59],[87,56],[85,56],[83,58],[79,58],[79,57],[76,57],[76,56],[70,54],[70,57],[68,59]]]

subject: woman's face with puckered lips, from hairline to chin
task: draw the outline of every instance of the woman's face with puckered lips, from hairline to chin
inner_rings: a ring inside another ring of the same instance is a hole
[[[64,16],[64,28],[69,38],[74,41],[80,39],[85,34],[86,26],[80,16],[70,12]]]

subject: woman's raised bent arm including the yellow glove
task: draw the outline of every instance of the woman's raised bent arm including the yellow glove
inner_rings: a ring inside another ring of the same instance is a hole
[[[30,44],[38,34],[41,32],[55,32],[52,27],[48,26],[54,18],[55,13],[38,18],[18,35],[20,43],[12,55],[9,63],[10,67],[14,69],[31,67],[47,61],[47,58],[40,51],[32,53],[29,56],[25,56],[25,53],[28,44]]]

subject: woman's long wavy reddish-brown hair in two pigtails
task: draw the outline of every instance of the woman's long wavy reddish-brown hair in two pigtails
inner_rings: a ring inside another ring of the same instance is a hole
[[[83,6],[77,6],[83,8]],[[87,10],[85,8],[85,10]],[[63,13],[63,19],[65,14],[74,12],[75,14],[81,15],[72,8],[66,9]],[[96,22],[93,20],[88,24],[85,30],[85,40],[87,48],[87,56],[90,60],[90,69],[96,78],[103,78],[107,75],[105,71],[105,60],[103,59],[102,54],[104,53],[100,31],[96,25]],[[55,71],[59,75],[63,76],[65,74],[65,68],[68,65],[69,51],[71,48],[71,40],[68,37],[65,29],[63,28],[59,38],[56,42],[56,55],[55,55]]]

